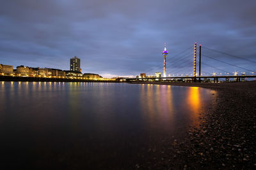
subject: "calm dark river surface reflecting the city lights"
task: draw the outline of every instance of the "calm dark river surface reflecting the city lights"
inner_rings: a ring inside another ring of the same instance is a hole
[[[198,124],[213,90],[127,83],[0,81],[1,153],[10,168],[119,169]]]

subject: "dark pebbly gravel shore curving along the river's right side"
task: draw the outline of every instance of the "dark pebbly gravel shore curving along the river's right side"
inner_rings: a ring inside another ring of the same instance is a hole
[[[138,82],[137,82],[138,83]],[[185,138],[148,150],[139,169],[256,169],[256,81],[168,83],[217,90],[211,107]]]

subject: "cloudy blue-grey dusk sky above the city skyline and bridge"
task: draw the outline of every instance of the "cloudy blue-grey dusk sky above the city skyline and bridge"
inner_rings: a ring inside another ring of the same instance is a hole
[[[83,73],[154,74],[163,72],[166,43],[167,73],[191,74],[196,42],[202,73],[249,74],[255,9],[255,0],[2,0],[0,63],[68,70],[77,56]]]

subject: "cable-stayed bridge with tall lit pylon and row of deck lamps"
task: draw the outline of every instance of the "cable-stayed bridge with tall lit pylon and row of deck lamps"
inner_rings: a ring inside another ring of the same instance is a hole
[[[176,55],[168,56],[164,64],[166,64],[164,77],[154,76],[154,72],[163,70],[164,65],[159,64],[144,72],[148,75],[147,77],[137,76],[127,80],[213,80],[218,82],[221,79],[244,81],[247,78],[256,78],[255,60],[214,50],[207,46],[197,46],[196,43]]]

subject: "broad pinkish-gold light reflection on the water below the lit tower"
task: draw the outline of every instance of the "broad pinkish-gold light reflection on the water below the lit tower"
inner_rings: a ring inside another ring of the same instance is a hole
[[[148,123],[148,127],[164,126],[167,131],[173,130],[172,95],[170,86],[141,85],[141,112],[143,113],[143,119]]]

